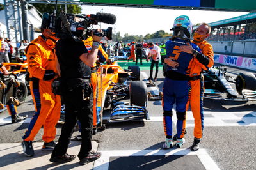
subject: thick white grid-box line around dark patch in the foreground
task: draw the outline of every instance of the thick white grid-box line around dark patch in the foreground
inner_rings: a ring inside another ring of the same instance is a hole
[[[189,149],[177,149],[170,150],[113,150],[113,151],[100,151],[102,156],[95,161],[93,169],[102,170],[109,169],[110,157],[128,157],[128,156],[170,156],[170,155],[197,155],[202,162],[205,169],[219,169],[214,160],[208,155],[205,149],[192,152]]]

